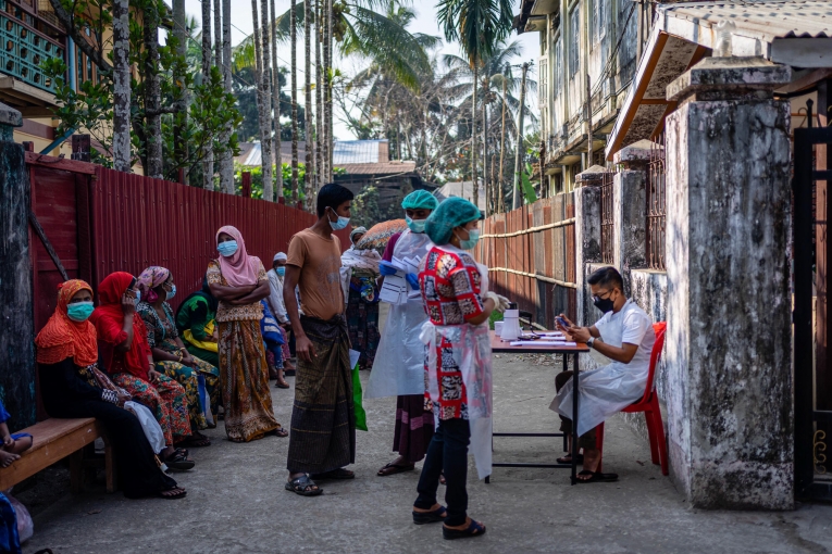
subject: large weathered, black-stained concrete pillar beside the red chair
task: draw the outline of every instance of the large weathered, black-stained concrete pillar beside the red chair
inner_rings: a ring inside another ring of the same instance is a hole
[[[794,506],[790,80],[708,58],[667,88],[668,441],[693,507]]]

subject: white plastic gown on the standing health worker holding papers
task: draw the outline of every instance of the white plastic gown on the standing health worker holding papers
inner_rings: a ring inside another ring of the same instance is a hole
[[[424,259],[433,242],[423,232],[405,230],[393,249],[399,260]],[[364,398],[424,394],[424,344],[419,339],[422,324],[427,320],[422,297],[409,298],[405,304],[390,305],[373,370]]]

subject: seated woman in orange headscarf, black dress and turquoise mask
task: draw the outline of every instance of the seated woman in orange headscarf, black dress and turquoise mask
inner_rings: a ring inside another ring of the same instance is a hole
[[[141,424],[120,407],[129,395],[99,387],[98,341],[89,323],[92,289],[83,280],[60,285],[58,306],[35,339],[40,394],[50,417],[95,417],[115,450],[124,495],[181,499],[185,490],[157,465]]]

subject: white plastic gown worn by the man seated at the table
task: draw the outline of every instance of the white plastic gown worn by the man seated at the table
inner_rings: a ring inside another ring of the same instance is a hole
[[[623,342],[638,344],[629,364],[612,362],[592,372],[582,372],[579,379],[578,436],[604,423],[609,416],[644,395],[656,333],[649,316],[632,300],[617,314],[609,312],[595,327],[601,340],[621,348]],[[572,417],[572,380],[555,396],[549,406],[564,417]]]

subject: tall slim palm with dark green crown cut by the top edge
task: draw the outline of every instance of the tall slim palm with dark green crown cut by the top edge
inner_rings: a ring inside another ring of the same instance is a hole
[[[511,30],[511,0],[439,0],[437,17],[447,40],[460,43],[477,83],[479,64],[492,54]],[[479,201],[476,179],[476,86],[471,103],[471,168],[474,204]]]

